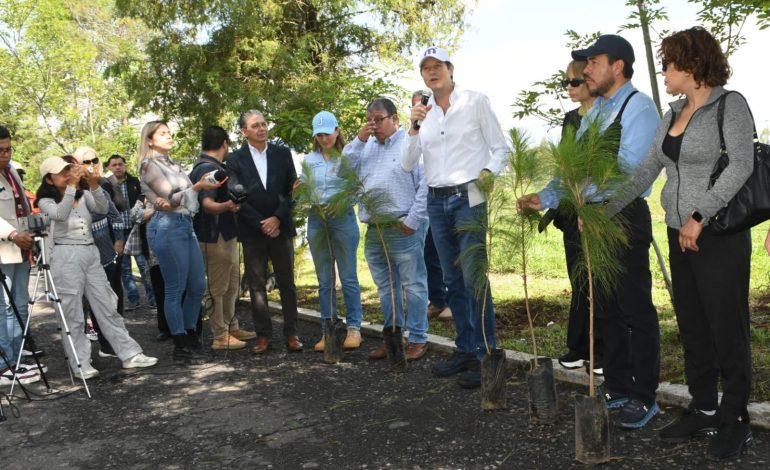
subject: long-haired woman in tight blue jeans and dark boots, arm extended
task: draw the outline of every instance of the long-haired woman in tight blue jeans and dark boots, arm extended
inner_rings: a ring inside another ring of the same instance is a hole
[[[155,211],[147,224],[147,241],[163,274],[164,311],[174,340],[174,360],[197,363],[207,359],[196,331],[206,279],[192,217],[199,209],[198,191],[221,183],[201,178],[193,184],[182,166],[169,157],[173,147],[165,122],[145,124],[139,138],[139,173],[142,193]]]

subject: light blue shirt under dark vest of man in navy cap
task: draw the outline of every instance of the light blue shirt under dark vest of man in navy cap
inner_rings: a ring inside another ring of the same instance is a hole
[[[588,110],[588,114],[581,121],[577,137],[583,135],[588,129],[589,123],[597,119],[601,120],[602,130],[606,130],[615,120],[628,95],[634,90],[635,88],[629,80],[618,88],[610,98],[597,97],[591,109]],[[618,162],[625,173],[632,175],[644,157],[647,156],[647,150],[650,148],[659,122],[660,114],[658,114],[652,98],[640,92],[629,100],[620,119],[623,130],[620,135],[620,150],[618,151]],[[557,188],[558,181],[554,180],[538,193],[543,209],[555,209],[559,205],[561,193]],[[651,188],[647,188],[642,197],[649,196],[650,190]],[[593,187],[586,188],[586,194],[594,194],[595,192],[596,189]],[[593,201],[602,202],[610,196],[610,193],[595,195]]]

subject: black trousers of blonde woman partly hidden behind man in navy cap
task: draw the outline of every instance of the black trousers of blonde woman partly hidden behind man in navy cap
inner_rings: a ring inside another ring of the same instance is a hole
[[[583,246],[580,242],[577,216],[562,208],[557,209],[553,224],[562,231],[564,254],[567,258],[567,275],[572,287],[567,323],[567,349],[583,359],[588,359],[588,283],[586,277],[577,275],[583,261]],[[598,329],[594,331],[594,356],[603,364],[604,343]]]

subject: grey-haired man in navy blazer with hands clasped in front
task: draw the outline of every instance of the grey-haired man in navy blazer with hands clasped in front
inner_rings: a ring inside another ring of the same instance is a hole
[[[273,263],[283,310],[283,334],[289,352],[302,350],[297,338],[297,288],[294,285],[294,236],[291,191],[297,172],[288,148],[268,143],[267,121],[261,112],[241,114],[238,127],[246,138],[227,157],[230,191],[246,193],[238,212],[238,238],[251,296],[257,343],[251,352],[270,348],[272,322],[267,307],[267,261]]]

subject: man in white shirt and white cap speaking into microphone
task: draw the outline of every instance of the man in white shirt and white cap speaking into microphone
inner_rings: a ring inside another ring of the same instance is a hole
[[[496,347],[491,289],[486,289],[486,299],[475,289],[478,277],[486,277],[478,269],[486,264],[486,250],[463,256],[461,267],[455,263],[461,253],[486,243],[484,231],[467,228],[487,222],[487,204],[476,181],[498,174],[510,149],[489,99],[456,87],[454,65],[446,51],[427,48],[420,58],[420,74],[433,96],[427,105],[412,108],[401,164],[410,171],[423,156],[430,228],[457,329],[454,354],[433,372],[440,377],[463,372],[458,384],[476,388],[481,385],[480,360],[487,347]]]

